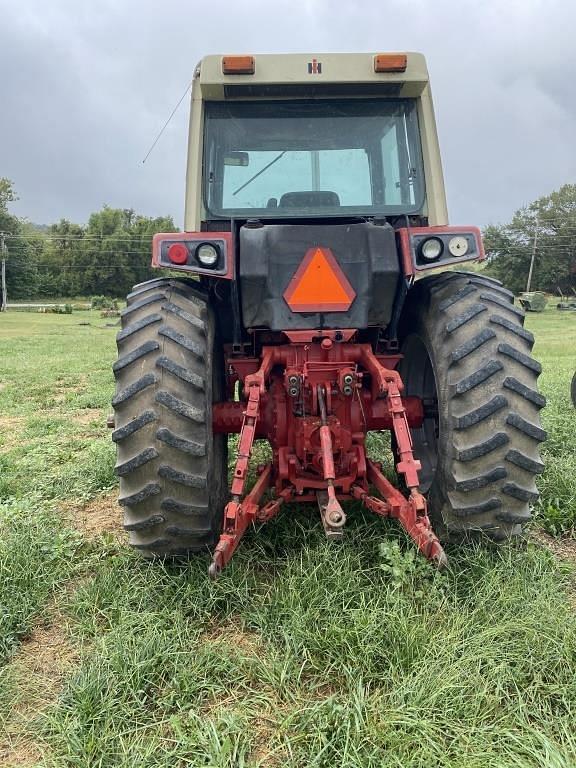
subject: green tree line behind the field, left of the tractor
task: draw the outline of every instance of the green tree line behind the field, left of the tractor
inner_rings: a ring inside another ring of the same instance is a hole
[[[38,227],[11,214],[12,183],[0,178],[8,300],[63,296],[125,296],[154,277],[152,236],[174,232],[170,216],[151,218],[104,206],[86,225],[61,219]]]

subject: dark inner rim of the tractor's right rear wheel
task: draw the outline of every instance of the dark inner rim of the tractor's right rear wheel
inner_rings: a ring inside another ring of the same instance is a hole
[[[422,464],[419,473],[420,490],[430,490],[438,467],[440,420],[438,417],[438,390],[430,355],[419,336],[408,336],[402,347],[404,358],[400,372],[405,394],[419,397],[424,404],[424,422],[410,429],[414,456]]]

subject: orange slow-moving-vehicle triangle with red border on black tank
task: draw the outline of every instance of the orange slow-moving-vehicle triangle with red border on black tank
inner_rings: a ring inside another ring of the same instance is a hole
[[[292,312],[346,312],[356,293],[329,248],[310,248],[284,298]]]

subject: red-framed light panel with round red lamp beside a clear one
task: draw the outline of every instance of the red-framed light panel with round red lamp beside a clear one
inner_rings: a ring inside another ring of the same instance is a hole
[[[159,233],[152,240],[152,266],[232,279],[230,232]]]

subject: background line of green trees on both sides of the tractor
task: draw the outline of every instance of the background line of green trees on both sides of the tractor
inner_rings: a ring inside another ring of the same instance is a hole
[[[86,225],[61,219],[38,227],[11,214],[12,182],[0,178],[0,232],[5,234],[10,299],[125,296],[154,277],[152,236],[174,232],[170,216],[150,218],[104,206]],[[484,271],[516,293],[576,288],[576,184],[565,184],[516,211],[508,224],[484,229]]]

